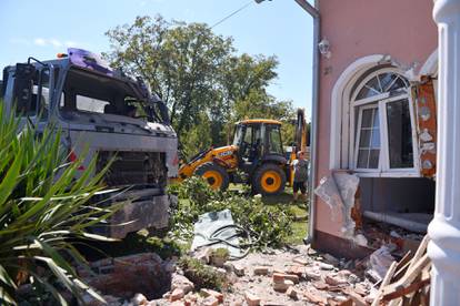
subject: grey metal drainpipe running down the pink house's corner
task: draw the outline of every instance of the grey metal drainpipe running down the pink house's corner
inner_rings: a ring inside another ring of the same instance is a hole
[[[314,231],[314,213],[316,213],[316,196],[313,193],[314,184],[317,180],[317,134],[318,134],[318,104],[319,104],[319,49],[318,43],[320,41],[320,13],[319,13],[319,0],[314,0],[314,7],[312,7],[307,0],[296,0],[296,2],[306,10],[313,18],[313,73],[312,73],[312,106],[311,106],[311,131],[310,131],[310,174],[309,174],[309,195],[310,195],[310,208],[308,216],[308,236],[304,238],[304,243],[309,244],[313,241]]]

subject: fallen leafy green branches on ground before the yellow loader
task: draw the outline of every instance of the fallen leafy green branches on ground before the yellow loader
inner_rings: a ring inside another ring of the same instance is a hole
[[[252,247],[279,247],[292,234],[293,214],[286,205],[264,205],[260,195],[246,192],[211,190],[201,177],[193,176],[170,187],[179,197],[171,218],[172,235],[191,239],[193,224],[209,212],[230,210],[237,225],[251,234]]]

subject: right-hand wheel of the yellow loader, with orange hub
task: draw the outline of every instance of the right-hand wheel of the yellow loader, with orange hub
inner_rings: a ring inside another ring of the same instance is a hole
[[[286,174],[277,164],[263,164],[254,172],[252,188],[257,194],[274,195],[284,190]]]

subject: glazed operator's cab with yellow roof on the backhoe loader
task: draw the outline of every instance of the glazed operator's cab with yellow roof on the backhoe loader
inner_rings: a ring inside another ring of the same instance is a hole
[[[286,163],[281,142],[281,122],[276,120],[244,120],[234,128],[233,145],[238,146],[240,167],[248,173],[260,164],[274,161]]]

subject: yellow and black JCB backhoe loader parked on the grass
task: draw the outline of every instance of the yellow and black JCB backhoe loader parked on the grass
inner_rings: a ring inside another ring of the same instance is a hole
[[[210,147],[179,169],[179,181],[200,175],[212,188],[226,190],[230,183],[247,183],[254,193],[273,195],[282,192],[287,177],[291,182],[290,160],[307,145],[303,110],[298,110],[296,145],[284,154],[281,122],[268,119],[243,120],[236,124],[233,143]]]

